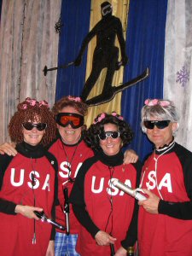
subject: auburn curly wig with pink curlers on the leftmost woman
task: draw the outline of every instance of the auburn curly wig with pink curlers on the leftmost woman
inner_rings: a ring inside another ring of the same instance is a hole
[[[10,119],[9,122],[9,136],[14,143],[22,143],[23,127],[22,124],[34,121],[47,124],[46,132],[41,143],[44,146],[49,145],[55,138],[56,124],[53,113],[50,112],[48,103],[45,101],[38,102],[35,99],[26,98],[24,102],[21,102],[17,106],[17,111]]]

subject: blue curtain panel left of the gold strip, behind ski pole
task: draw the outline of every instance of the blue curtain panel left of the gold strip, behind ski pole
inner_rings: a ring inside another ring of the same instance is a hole
[[[62,0],[61,34],[58,66],[75,60],[80,46],[90,29],[90,0]],[[84,86],[86,52],[79,67],[69,66],[57,72],[55,101],[62,96],[79,96]]]

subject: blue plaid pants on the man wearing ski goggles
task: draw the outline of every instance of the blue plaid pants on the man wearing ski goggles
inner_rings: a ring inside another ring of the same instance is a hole
[[[55,235],[55,256],[80,256],[75,251],[78,235],[66,235],[56,232]]]

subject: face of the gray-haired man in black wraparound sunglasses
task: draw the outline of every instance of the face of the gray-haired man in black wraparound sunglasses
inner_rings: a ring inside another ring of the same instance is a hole
[[[160,120],[155,117],[151,117],[150,120]],[[154,129],[147,129],[148,139],[154,143],[155,148],[161,148],[172,142],[172,133],[177,130],[177,123],[170,122],[164,129],[157,128],[154,125]]]

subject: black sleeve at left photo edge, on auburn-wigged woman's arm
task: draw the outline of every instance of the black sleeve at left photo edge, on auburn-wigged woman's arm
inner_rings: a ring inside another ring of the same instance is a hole
[[[13,158],[13,156],[9,156],[8,154],[0,155],[0,189],[2,189],[4,173],[6,172],[9,163],[11,160],[13,160]],[[15,207],[16,204],[13,201],[7,201],[0,198],[0,212],[15,215]]]

